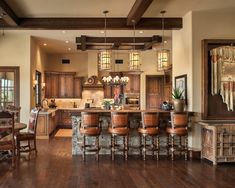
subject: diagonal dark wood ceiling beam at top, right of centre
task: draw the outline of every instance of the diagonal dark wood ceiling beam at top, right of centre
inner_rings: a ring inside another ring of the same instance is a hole
[[[133,25],[132,20],[137,24],[152,2],[153,0],[136,0],[127,16],[126,24],[128,26]]]

